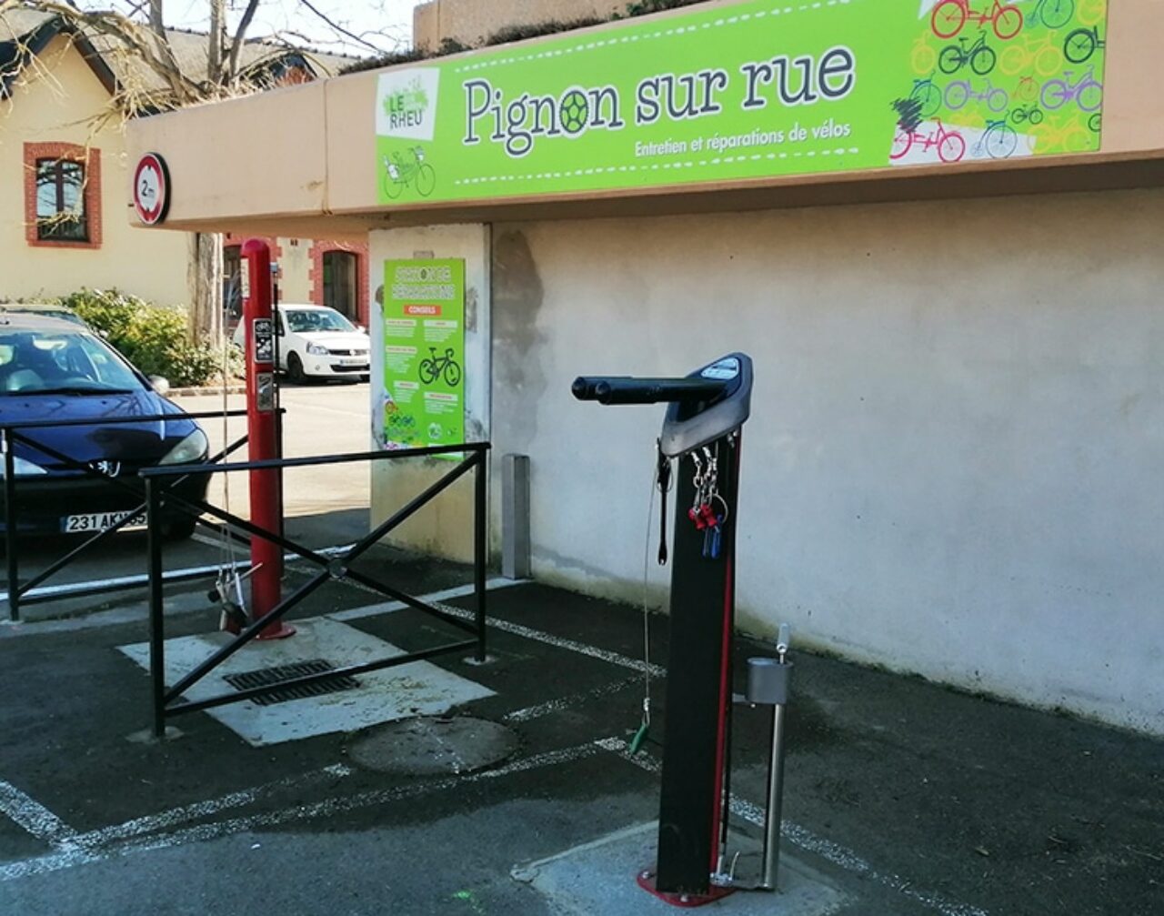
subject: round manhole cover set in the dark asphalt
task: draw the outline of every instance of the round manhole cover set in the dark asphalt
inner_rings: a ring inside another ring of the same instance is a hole
[[[348,759],[378,773],[462,774],[504,760],[517,745],[517,734],[496,722],[424,717],[363,732],[348,746]]]

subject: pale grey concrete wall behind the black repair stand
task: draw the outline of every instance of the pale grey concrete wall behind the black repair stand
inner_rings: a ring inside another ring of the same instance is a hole
[[[535,575],[641,589],[662,411],[570,381],[743,349],[746,630],[1164,732],[1162,233],[1161,191],[495,226]]]

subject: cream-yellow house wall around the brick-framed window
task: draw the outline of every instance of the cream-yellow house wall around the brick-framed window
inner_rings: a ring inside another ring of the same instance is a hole
[[[44,76],[0,101],[0,297],[58,296],[88,286],[186,303],[186,236],[129,225],[125,132],[119,125],[91,126],[93,114],[108,106],[105,86],[64,38],[45,49],[40,66]],[[62,142],[100,150],[100,248],[34,247],[26,239],[24,143]]]

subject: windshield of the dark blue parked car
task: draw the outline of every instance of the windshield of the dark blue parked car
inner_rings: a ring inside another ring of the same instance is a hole
[[[0,328],[0,396],[141,389],[125,361],[91,334]]]

